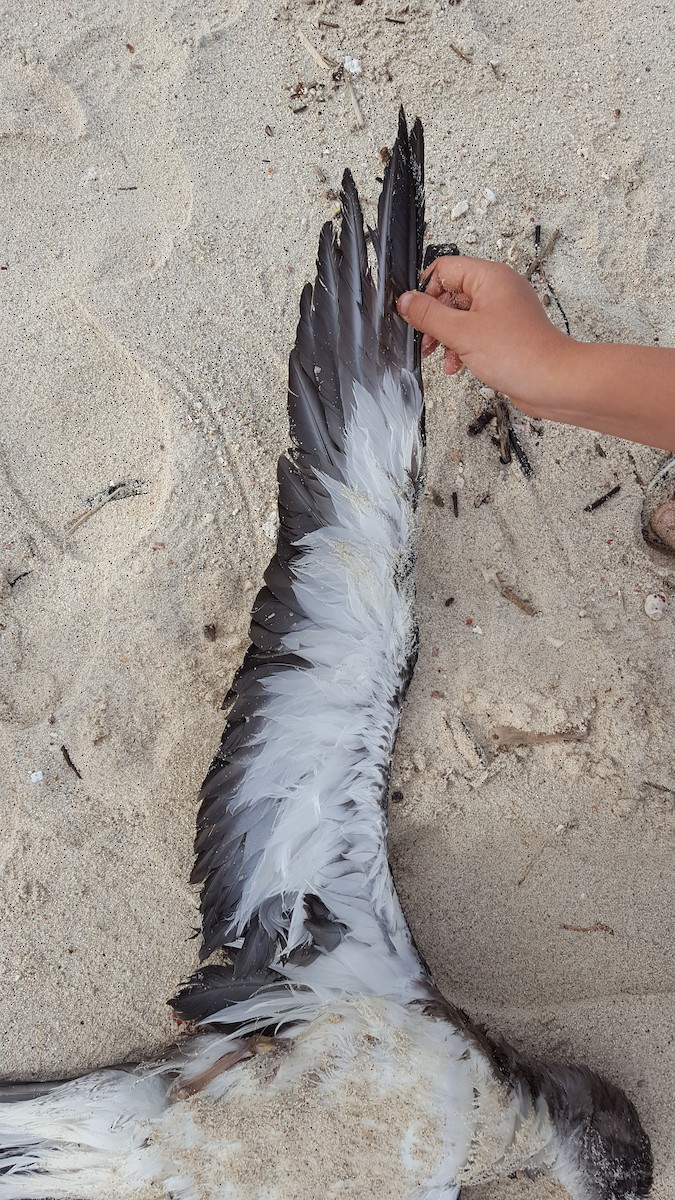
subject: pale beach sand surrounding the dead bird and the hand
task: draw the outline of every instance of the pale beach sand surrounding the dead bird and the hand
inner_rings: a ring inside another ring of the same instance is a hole
[[[534,222],[558,228],[573,335],[673,344],[673,25],[629,0],[5,11],[2,1074],[172,1032],[195,794],[271,551],[286,359],[342,168],[372,217],[402,100],[425,124],[432,240],[525,266]],[[300,29],[360,60],[363,130]],[[300,82],[316,89],[291,106]],[[467,437],[477,384],[426,378],[396,881],[449,996],[637,1098],[670,1200],[675,570],[638,522],[665,456],[524,421],[526,480]]]

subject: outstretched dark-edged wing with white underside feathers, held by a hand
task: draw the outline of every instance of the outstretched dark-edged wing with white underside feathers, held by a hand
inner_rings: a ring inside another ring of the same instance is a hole
[[[172,1003],[208,1016],[280,976],[313,991],[424,984],[387,859],[387,786],[416,654],[416,506],[424,458],[419,338],[395,298],[417,286],[423,134],[401,110],[370,232],[351,174],[321,233],[289,362],[292,449],[279,540],[205,779],[192,881],[207,967]],[[270,974],[274,972],[274,974]]]

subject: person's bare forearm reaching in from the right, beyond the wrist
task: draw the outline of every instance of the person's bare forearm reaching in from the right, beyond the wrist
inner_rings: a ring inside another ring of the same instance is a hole
[[[542,416],[675,452],[675,349],[566,340],[556,358]]]

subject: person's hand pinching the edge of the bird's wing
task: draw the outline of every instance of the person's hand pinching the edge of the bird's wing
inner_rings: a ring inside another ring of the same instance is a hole
[[[444,346],[447,374],[466,366],[525,413],[546,416],[571,340],[551,325],[531,283],[504,263],[461,256],[437,258],[424,278],[424,293],[398,301],[401,317],[424,334],[422,353]]]

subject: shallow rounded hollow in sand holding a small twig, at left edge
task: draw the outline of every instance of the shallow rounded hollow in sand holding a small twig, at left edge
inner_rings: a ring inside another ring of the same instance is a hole
[[[19,725],[82,686],[109,580],[149,553],[171,476],[155,384],[78,305],[59,316],[11,372],[0,452],[0,719]]]

